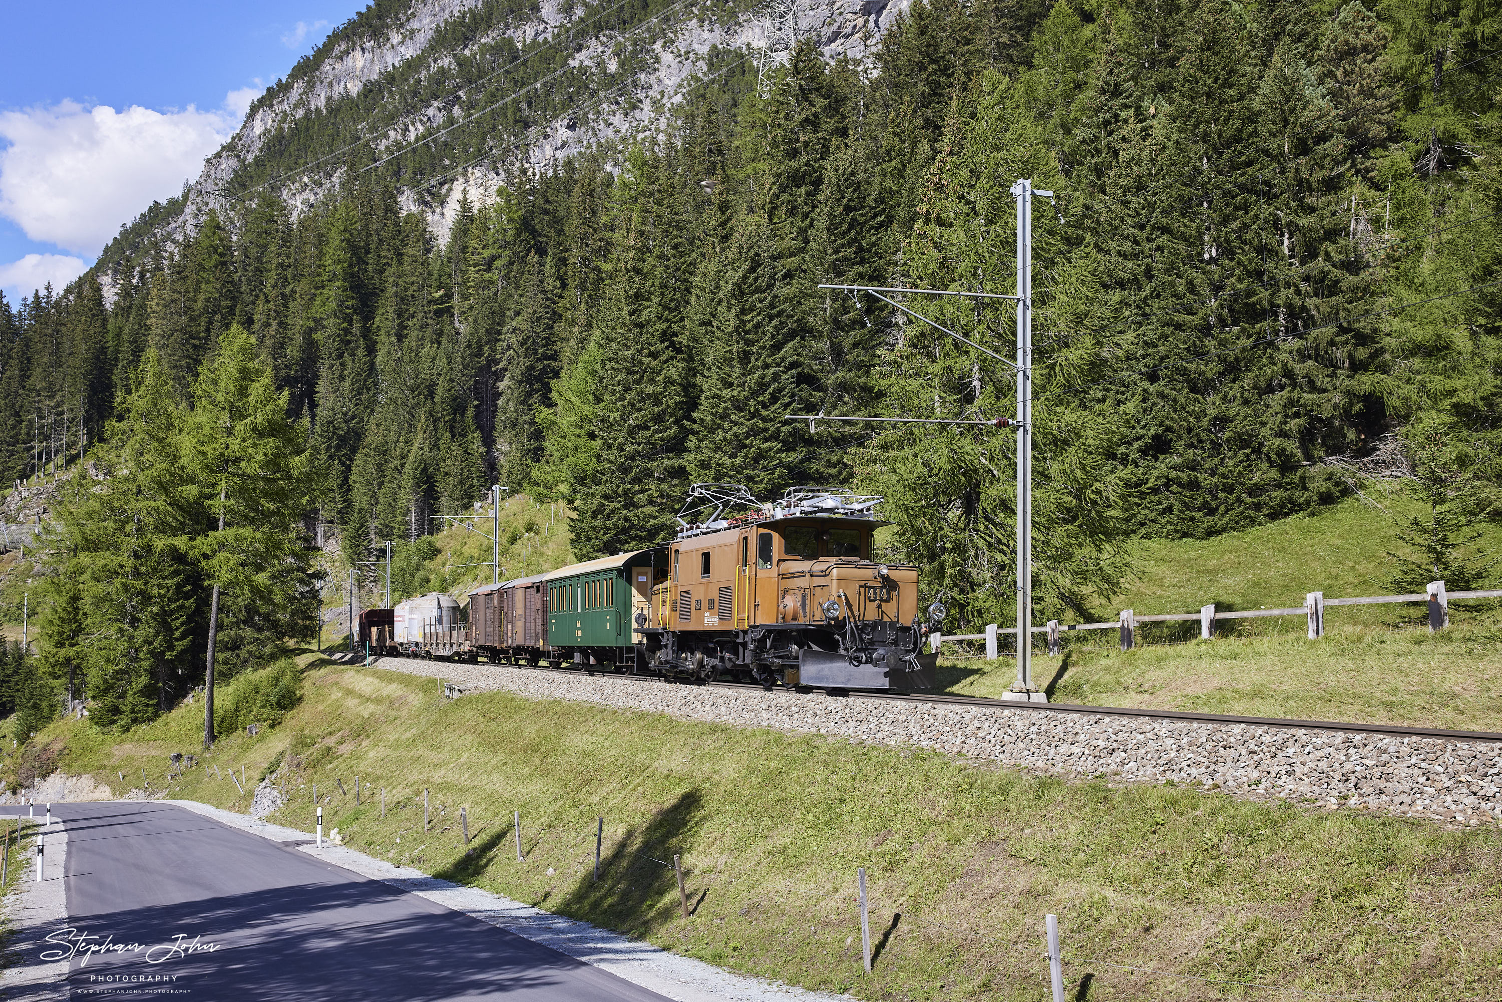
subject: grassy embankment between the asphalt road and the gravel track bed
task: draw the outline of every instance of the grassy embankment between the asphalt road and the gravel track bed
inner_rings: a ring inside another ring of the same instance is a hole
[[[1502,964],[1502,834],[1490,826],[1065,783],[505,693],[446,702],[434,679],[326,662],[303,690],[279,727],[225,739],[204,760],[243,766],[251,783],[282,763],[293,799],[275,820],[311,829],[317,784],[332,795],[326,823],[360,850],[813,988],[1035,1000],[1047,993],[1048,912],[1063,928],[1069,997],[1093,1002],[1265,994],[1107,964],[1385,1000],[1490,997]],[[189,705],[120,739],[87,720],[42,738],[66,744],[71,772],[119,787],[143,765],[161,781],[200,727]],[[249,802],[203,765],[171,792]],[[674,853],[688,919],[664,865]],[[871,876],[870,975],[858,865]]]

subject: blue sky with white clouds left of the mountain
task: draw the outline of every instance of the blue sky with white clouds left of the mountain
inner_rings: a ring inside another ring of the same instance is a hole
[[[6,5],[0,288],[57,284],[197,177],[245,107],[366,5]]]

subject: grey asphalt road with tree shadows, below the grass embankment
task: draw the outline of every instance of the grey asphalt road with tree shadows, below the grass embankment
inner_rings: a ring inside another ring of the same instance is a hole
[[[662,1000],[171,804],[54,804],[53,817],[68,829],[69,925],[96,937],[90,946],[126,946],[77,954],[74,997]]]

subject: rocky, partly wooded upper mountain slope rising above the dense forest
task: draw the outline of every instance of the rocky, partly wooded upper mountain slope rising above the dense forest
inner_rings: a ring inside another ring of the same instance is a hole
[[[662,134],[691,93],[730,87],[811,38],[864,62],[910,0],[397,0],[374,3],[278,80],[168,206],[182,239],[261,192],[297,215],[386,168],[440,239],[517,170]],[[161,225],[143,216],[110,264]],[[144,227],[143,227],[144,224]]]

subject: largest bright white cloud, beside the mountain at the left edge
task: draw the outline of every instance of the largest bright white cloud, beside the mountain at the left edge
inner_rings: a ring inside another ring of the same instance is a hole
[[[218,111],[152,111],[72,101],[0,113],[0,215],[33,240],[98,254],[120,224],[182,191],[234,132],[254,99],[225,96]]]

